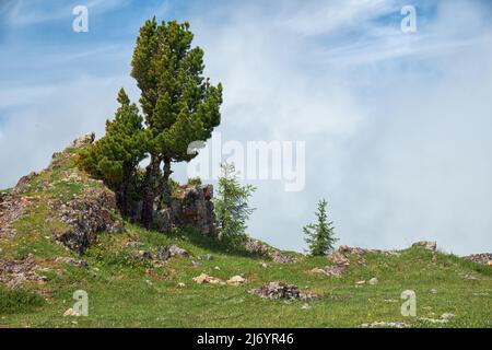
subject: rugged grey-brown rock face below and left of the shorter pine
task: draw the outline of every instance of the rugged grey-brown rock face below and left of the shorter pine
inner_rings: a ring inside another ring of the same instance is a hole
[[[72,250],[83,253],[97,233],[122,231],[117,214],[115,194],[108,189],[90,188],[60,207],[59,218],[69,225],[56,238]]]

